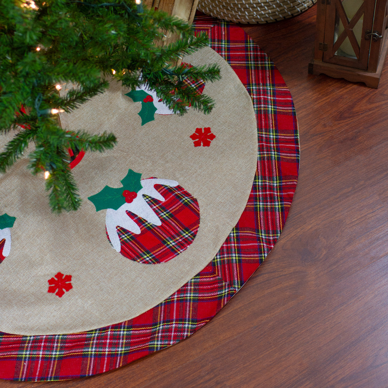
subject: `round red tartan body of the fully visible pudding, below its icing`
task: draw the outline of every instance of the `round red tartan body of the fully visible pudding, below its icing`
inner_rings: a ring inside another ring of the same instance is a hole
[[[199,228],[197,200],[182,186],[155,185],[165,199],[160,202],[149,196],[145,201],[161,220],[160,226],[127,211],[127,215],[140,227],[140,234],[118,227],[121,255],[139,263],[157,264],[171,260],[183,252],[193,241]]]

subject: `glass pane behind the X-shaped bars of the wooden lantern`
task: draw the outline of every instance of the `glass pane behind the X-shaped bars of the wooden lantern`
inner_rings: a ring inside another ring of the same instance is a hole
[[[348,21],[350,22],[363,3],[364,3],[364,0],[343,0],[342,9],[340,9],[340,11],[342,10],[344,11]],[[340,1],[336,2],[336,23],[335,23],[335,29],[334,29],[334,44],[337,42],[338,38],[341,38],[341,34],[345,30],[343,22],[340,17],[340,12],[338,11],[338,8],[340,7],[341,7],[341,2]],[[359,47],[361,45],[363,21],[364,21],[364,15],[362,15],[359,18],[359,20],[357,21],[357,23],[355,23],[355,26],[352,29]],[[358,59],[357,55],[354,52],[352,44],[350,43],[348,36],[346,36],[345,40],[343,40],[343,42],[341,43],[340,47],[338,48],[338,50],[334,55]]]

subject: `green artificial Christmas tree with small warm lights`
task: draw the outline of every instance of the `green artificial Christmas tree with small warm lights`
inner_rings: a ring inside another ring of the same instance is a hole
[[[146,85],[174,113],[184,114],[188,106],[209,113],[213,107],[184,80],[214,81],[218,67],[171,65],[208,44],[206,35],[195,37],[176,17],[145,9],[140,0],[3,0],[1,5],[0,132],[16,134],[0,154],[0,171],[34,143],[29,168],[33,174],[45,171],[55,212],[80,206],[71,174],[76,153],[104,151],[116,142],[113,133],[66,132],[58,113],[103,93],[109,78],[133,91]],[[180,40],[163,47],[159,42],[170,33]],[[59,95],[69,82],[73,87]]]

